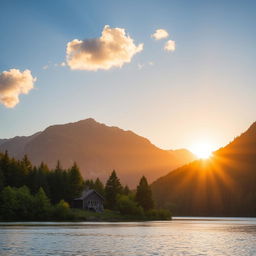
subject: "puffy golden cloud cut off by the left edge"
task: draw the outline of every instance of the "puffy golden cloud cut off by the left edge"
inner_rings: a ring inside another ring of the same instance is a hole
[[[20,94],[28,94],[34,87],[36,78],[26,69],[10,69],[0,73],[0,103],[7,108],[13,108],[19,103]]]

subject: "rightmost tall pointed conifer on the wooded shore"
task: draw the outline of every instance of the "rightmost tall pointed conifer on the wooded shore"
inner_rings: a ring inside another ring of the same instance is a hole
[[[147,179],[143,176],[137,186],[136,201],[142,208],[147,211],[154,208],[154,201],[152,198],[152,191],[148,185]]]

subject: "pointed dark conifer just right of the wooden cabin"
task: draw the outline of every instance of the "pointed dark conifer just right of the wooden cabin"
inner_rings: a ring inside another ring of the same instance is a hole
[[[118,179],[115,170],[111,173],[105,187],[106,207],[116,209],[117,195],[123,191],[120,180]]]

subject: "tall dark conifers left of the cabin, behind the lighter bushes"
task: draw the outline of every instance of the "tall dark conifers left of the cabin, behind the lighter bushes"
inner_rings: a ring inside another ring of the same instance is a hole
[[[84,180],[76,163],[69,169],[63,169],[58,162],[54,170],[41,163],[33,166],[25,155],[22,160],[10,158],[8,152],[0,154],[0,190],[4,187],[27,186],[32,194],[42,188],[51,203],[60,200],[71,203],[81,194]]]

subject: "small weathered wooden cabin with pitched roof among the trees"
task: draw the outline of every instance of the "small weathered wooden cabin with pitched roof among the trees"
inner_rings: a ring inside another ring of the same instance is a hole
[[[74,208],[80,208],[89,211],[103,212],[104,198],[94,189],[86,189],[82,192],[81,197],[73,200]]]

